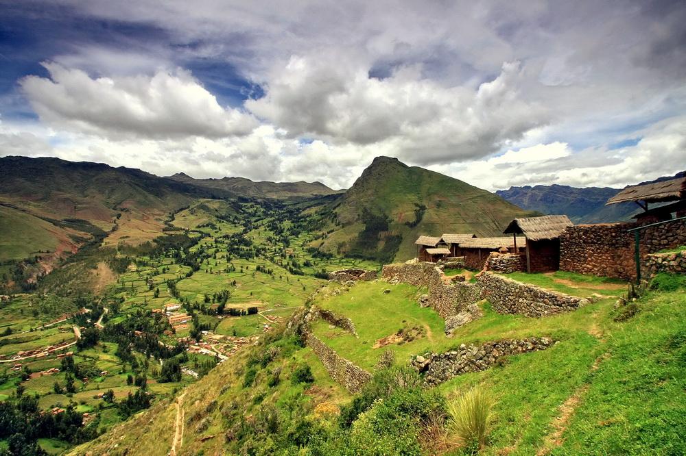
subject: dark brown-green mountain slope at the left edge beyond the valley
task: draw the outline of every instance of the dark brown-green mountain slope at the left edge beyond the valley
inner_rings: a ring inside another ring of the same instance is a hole
[[[0,260],[73,253],[94,233],[106,243],[158,236],[163,218],[198,198],[233,193],[132,168],[59,158],[0,158]]]

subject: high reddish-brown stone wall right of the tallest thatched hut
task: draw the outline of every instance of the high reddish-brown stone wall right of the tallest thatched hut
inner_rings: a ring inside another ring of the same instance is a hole
[[[639,223],[576,225],[560,236],[560,270],[570,273],[636,279],[634,233]],[[683,220],[641,230],[640,256],[686,244]],[[648,270],[645,271],[646,275]],[[641,270],[643,275],[643,270]]]

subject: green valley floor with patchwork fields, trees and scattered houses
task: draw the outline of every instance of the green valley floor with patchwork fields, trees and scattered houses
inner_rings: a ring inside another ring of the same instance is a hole
[[[322,255],[307,219],[283,207],[206,200],[138,228],[123,222],[110,250],[84,250],[60,279],[47,276],[53,292],[0,301],[0,400],[35,397],[39,410],[81,414],[88,435],[100,433],[283,325],[329,272],[380,266]],[[172,325],[175,315],[187,321]],[[50,454],[75,443],[37,442]]]

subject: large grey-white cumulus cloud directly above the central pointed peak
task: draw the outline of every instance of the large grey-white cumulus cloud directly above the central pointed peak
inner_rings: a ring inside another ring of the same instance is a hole
[[[421,66],[383,79],[368,68],[324,58],[293,57],[275,68],[267,94],[246,101],[257,116],[289,136],[325,138],[336,145],[377,144],[419,164],[490,155],[547,118],[539,103],[519,97],[517,62],[475,90],[421,78]]]

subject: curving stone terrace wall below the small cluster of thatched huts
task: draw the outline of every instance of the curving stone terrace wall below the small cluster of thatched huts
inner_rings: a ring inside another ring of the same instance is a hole
[[[390,283],[427,286],[423,307],[431,307],[442,318],[457,315],[467,305],[480,301],[481,289],[475,283],[447,284],[442,277],[443,271],[430,263],[387,264],[381,270],[381,279]]]

